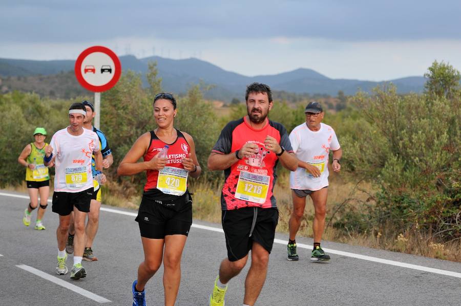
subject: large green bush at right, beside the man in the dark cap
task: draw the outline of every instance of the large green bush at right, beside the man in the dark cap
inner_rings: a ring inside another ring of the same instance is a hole
[[[342,147],[349,170],[380,186],[370,226],[392,222],[395,230],[416,226],[445,240],[461,238],[460,101],[399,96],[393,86],[352,98],[363,117]]]

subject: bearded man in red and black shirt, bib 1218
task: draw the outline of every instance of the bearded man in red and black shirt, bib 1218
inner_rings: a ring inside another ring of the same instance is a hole
[[[256,302],[279,218],[273,194],[275,170],[279,161],[291,171],[298,167],[285,127],[267,118],[273,107],[269,86],[248,85],[245,100],[248,115],[227,123],[208,158],[210,170],[224,170],[221,208],[227,247],[209,297],[211,306],[224,305],[227,282],[245,267],[249,250],[252,264],[243,303]]]

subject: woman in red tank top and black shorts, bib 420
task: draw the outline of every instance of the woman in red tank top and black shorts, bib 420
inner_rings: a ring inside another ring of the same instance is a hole
[[[201,168],[192,137],[173,126],[177,113],[175,98],[158,94],[153,106],[158,127],[136,140],[117,173],[132,176],[145,170],[147,174],[136,217],[145,255],[133,282],[133,301],[143,305],[145,284],[157,272],[163,257],[163,283],[171,288],[164,290],[165,305],[174,305],[181,279],[181,254],[192,225],[187,179],[199,177]],[[141,157],[144,161],[138,162]]]

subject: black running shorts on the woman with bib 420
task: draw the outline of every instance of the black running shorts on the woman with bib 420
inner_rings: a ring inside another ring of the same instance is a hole
[[[176,211],[143,196],[136,221],[141,236],[145,238],[163,239],[166,235],[177,234],[187,236],[192,225],[192,201]]]

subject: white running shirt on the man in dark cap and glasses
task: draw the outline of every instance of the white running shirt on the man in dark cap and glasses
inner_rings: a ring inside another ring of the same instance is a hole
[[[314,132],[304,122],[291,131],[289,139],[296,157],[317,166],[321,172],[320,177],[315,178],[306,169],[298,167],[290,172],[290,188],[316,191],[328,186],[328,154],[330,150],[340,148],[333,128],[320,123],[320,129]]]

